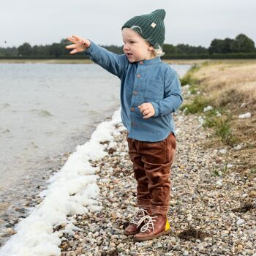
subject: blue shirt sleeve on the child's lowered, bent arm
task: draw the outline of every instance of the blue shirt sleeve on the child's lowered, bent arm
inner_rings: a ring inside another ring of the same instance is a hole
[[[175,70],[170,67],[165,71],[165,97],[157,102],[151,102],[154,107],[154,116],[165,116],[178,110],[183,102],[181,83]]]

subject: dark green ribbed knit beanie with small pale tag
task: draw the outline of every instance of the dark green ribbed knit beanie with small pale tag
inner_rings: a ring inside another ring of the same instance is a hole
[[[139,26],[140,29],[134,28],[141,37],[146,39],[154,48],[157,48],[158,44],[162,47],[165,41],[165,10],[160,9],[149,14],[135,16],[124,23],[121,29],[132,26]]]

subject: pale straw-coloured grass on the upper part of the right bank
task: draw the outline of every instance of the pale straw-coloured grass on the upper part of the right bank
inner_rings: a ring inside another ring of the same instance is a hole
[[[195,78],[216,105],[238,107],[244,102],[256,110],[256,63],[204,65]]]

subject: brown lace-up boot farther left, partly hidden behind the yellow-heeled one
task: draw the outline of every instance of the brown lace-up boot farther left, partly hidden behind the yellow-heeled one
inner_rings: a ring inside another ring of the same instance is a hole
[[[131,221],[129,222],[128,227],[124,230],[124,235],[131,236],[139,233],[140,227],[142,227],[145,224],[144,222],[140,222],[140,219],[145,216],[148,216],[149,214],[150,214],[149,209],[139,208],[135,212],[134,217],[132,217]],[[138,225],[138,222],[140,222],[139,225]]]

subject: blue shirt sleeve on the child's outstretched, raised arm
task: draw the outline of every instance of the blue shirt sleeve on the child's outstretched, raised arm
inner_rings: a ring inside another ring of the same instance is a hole
[[[91,40],[90,40],[91,42]],[[127,65],[127,56],[124,54],[112,53],[109,50],[102,48],[101,46],[91,42],[91,45],[87,50],[83,52],[85,55],[89,55],[89,58],[99,66],[108,70],[113,75],[118,76],[121,79],[124,74],[125,67]]]

